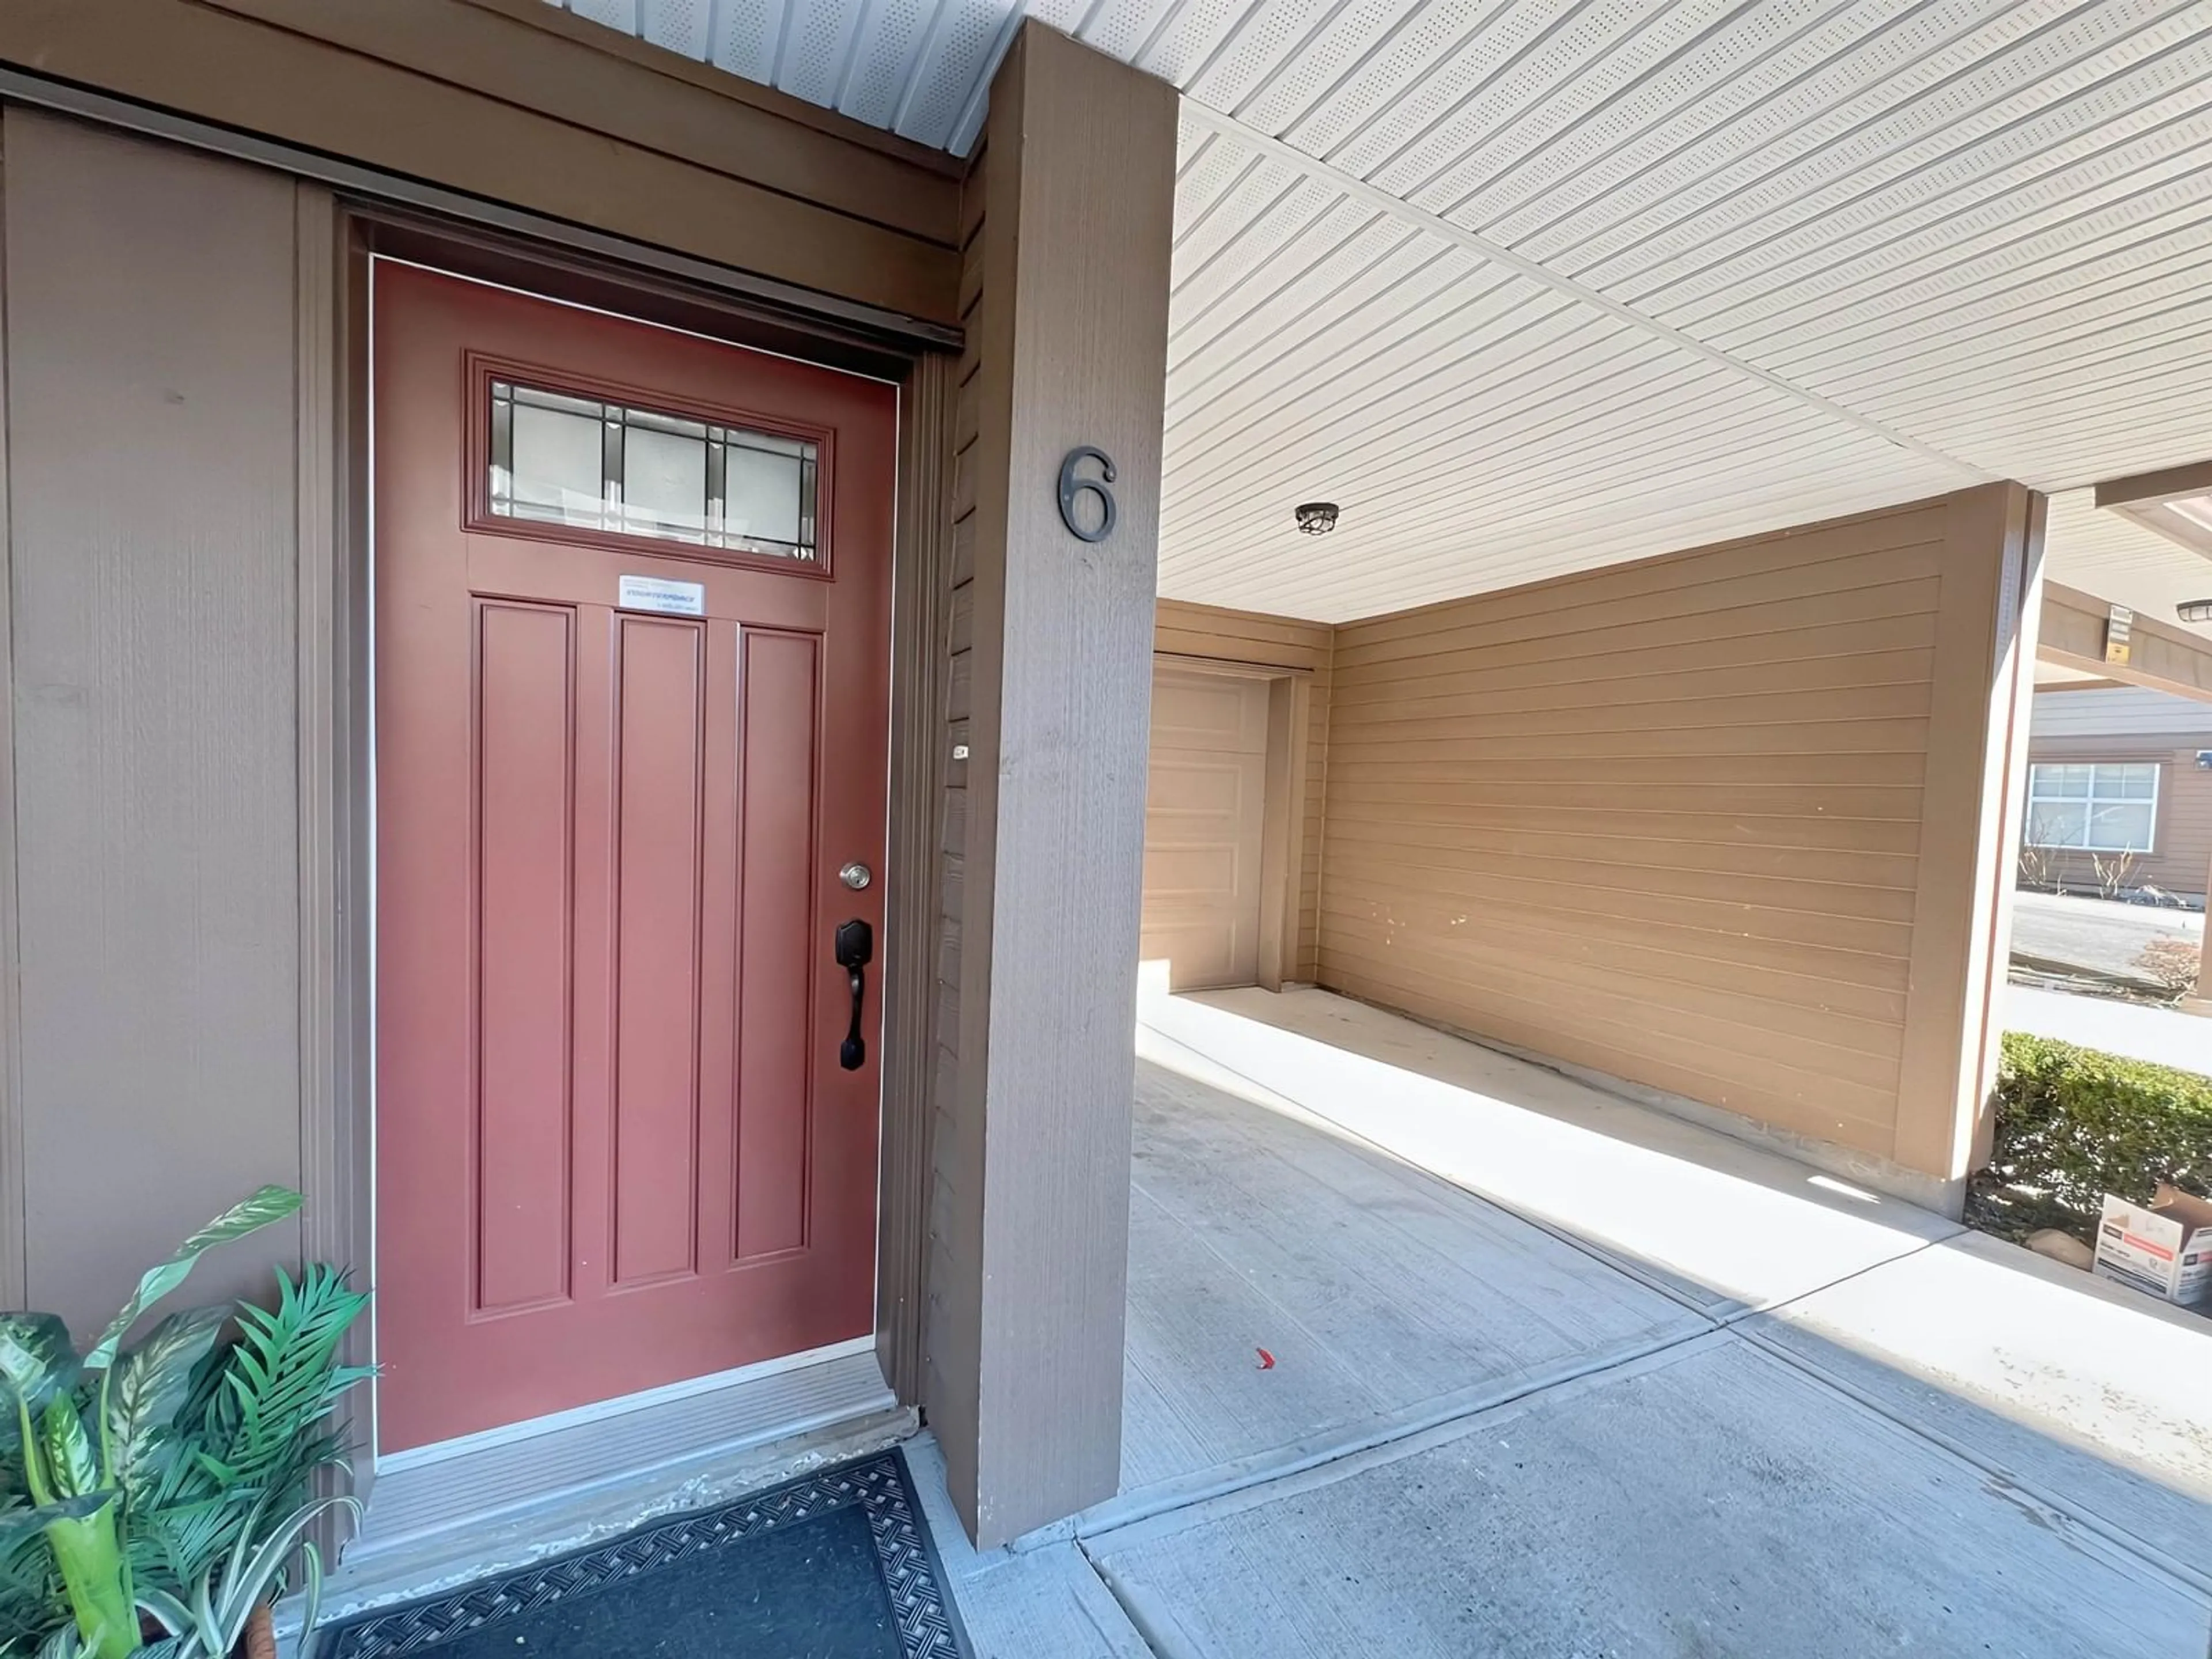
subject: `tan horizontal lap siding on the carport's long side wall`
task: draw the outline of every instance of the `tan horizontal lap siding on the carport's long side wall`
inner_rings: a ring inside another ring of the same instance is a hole
[[[1336,630],[1321,982],[1889,1152],[1944,507]]]

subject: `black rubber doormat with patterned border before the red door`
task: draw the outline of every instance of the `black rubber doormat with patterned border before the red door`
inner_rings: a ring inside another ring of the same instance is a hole
[[[316,1659],[969,1659],[894,1449],[323,1630]]]

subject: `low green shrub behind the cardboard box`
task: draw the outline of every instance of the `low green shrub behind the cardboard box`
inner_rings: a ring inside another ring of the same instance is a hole
[[[2088,1241],[2106,1192],[2148,1203],[2159,1181],[2212,1197],[2212,1077],[2006,1033],[1978,1225]]]

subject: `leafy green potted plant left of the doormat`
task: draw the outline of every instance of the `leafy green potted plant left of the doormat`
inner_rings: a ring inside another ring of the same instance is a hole
[[[352,1506],[312,1484],[343,1462],[332,1407],[369,1374],[338,1363],[367,1296],[332,1267],[279,1272],[274,1307],[175,1312],[124,1347],[201,1254],[299,1203],[261,1188],[195,1232],[84,1354],[53,1314],[0,1314],[0,1659],[226,1659],[294,1555],[319,1590],[303,1537]]]

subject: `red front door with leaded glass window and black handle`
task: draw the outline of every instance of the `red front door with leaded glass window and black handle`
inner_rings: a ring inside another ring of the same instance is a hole
[[[385,1451],[865,1336],[896,394],[374,276]]]

